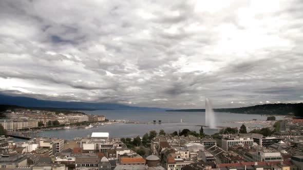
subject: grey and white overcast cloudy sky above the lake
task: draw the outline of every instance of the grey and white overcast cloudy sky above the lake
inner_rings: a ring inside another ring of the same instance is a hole
[[[303,1],[0,1],[0,93],[141,107],[303,101]]]

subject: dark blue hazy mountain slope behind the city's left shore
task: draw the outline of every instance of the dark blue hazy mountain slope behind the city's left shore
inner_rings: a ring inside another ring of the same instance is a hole
[[[18,105],[27,108],[60,108],[65,110],[165,110],[161,108],[131,107],[117,103],[90,103],[39,100],[30,97],[7,96],[0,94],[0,104]]]

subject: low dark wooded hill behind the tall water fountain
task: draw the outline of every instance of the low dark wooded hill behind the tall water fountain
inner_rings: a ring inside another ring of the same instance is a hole
[[[205,109],[168,110],[169,112],[205,112]],[[303,103],[262,104],[243,108],[214,109],[215,112],[260,114],[260,115],[290,115],[303,116]]]

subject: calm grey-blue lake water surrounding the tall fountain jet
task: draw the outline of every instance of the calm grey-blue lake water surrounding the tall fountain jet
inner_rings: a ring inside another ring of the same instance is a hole
[[[162,123],[134,124],[134,123],[114,123],[105,124],[91,129],[70,129],[70,130],[54,130],[40,132],[38,135],[42,137],[52,137],[61,139],[73,139],[75,137],[84,137],[92,132],[109,132],[110,137],[136,137],[143,136],[151,130],[163,129],[166,133],[172,133],[182,129],[190,129],[199,131],[200,126],[205,125],[204,112],[165,112],[165,111],[82,111],[87,114],[104,115],[106,119],[123,119],[139,122],[153,122],[153,120],[161,120]],[[239,127],[242,123],[228,123],[231,121],[241,120],[266,120],[266,116],[249,115],[249,114],[233,114],[233,113],[215,113],[217,126]],[[181,122],[182,119],[182,122]],[[281,117],[277,117],[281,119]],[[169,122],[169,123],[168,123]],[[174,123],[172,123],[174,122]],[[245,124],[247,127],[262,127],[262,124]],[[205,134],[214,134],[219,130],[204,128]]]

